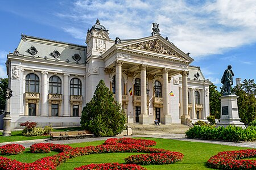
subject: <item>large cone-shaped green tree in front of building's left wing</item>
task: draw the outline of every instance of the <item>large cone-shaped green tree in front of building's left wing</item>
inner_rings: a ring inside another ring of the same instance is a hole
[[[125,129],[126,116],[113,93],[100,80],[92,100],[82,110],[82,129],[90,130],[97,137],[115,136]]]

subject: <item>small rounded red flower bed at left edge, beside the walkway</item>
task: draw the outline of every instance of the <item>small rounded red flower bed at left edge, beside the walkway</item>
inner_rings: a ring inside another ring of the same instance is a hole
[[[25,147],[19,144],[7,144],[0,147],[1,155],[22,154]]]

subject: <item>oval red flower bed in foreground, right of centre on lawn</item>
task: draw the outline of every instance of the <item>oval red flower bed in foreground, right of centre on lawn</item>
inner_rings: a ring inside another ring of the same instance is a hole
[[[154,154],[142,154],[142,155],[131,155],[125,158],[125,162],[128,164],[171,164],[183,159],[183,154],[180,152],[165,152],[165,153],[154,153]]]

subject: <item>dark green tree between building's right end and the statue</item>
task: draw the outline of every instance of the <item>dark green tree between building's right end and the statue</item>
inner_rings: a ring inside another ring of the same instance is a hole
[[[209,100],[210,100],[210,115],[215,118],[220,118],[221,100],[219,99],[221,93],[217,90],[217,86],[213,83],[209,86]]]

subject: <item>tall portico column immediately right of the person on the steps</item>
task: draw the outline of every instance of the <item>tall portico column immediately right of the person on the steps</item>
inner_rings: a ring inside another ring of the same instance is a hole
[[[161,117],[161,122],[163,124],[170,125],[172,118],[169,113],[169,90],[168,90],[168,69],[163,68],[163,116]]]

